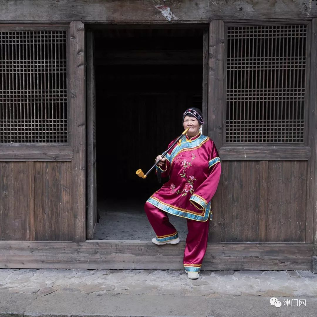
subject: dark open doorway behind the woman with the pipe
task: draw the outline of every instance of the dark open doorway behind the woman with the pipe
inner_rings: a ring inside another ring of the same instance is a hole
[[[94,31],[100,215],[94,239],[153,236],[143,205],[162,184],[154,172],[140,179],[135,171],[146,172],[181,134],[186,108],[202,108],[203,33],[202,28]],[[171,217],[185,232],[185,219]]]

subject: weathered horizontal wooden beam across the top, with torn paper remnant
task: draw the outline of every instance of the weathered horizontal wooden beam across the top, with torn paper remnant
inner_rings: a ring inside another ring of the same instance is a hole
[[[182,22],[212,19],[311,18],[314,2],[300,0],[7,0],[0,4],[0,21]]]

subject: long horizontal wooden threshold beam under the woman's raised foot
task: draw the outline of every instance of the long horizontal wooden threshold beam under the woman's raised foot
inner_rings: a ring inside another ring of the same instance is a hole
[[[1,268],[183,269],[185,241],[1,241]],[[312,243],[208,243],[205,270],[309,270]]]

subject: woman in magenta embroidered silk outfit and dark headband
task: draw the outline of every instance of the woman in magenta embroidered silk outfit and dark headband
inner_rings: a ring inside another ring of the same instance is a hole
[[[184,251],[184,267],[190,279],[199,277],[206,253],[211,198],[216,192],[221,165],[214,142],[201,135],[204,123],[201,111],[189,108],[183,114],[184,129],[189,128],[164,158],[158,155],[157,172],[170,177],[145,204],[146,215],[156,233],[152,242],[176,244],[178,232],[167,213],[187,218],[188,234]],[[175,140],[174,140],[175,141]],[[169,144],[169,147],[174,142]]]

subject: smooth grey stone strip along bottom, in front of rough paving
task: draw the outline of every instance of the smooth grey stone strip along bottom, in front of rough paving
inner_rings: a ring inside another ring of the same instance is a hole
[[[17,294],[11,302],[26,298]],[[31,295],[29,295],[31,296]],[[20,298],[18,298],[20,297]],[[317,298],[278,297],[281,307],[262,296],[109,295],[59,292],[30,300],[24,317],[316,317]],[[294,300],[306,300],[296,307]],[[293,300],[293,301],[292,301]],[[30,303],[31,301],[31,303]],[[286,306],[287,301],[294,306]],[[8,308],[8,307],[6,307]],[[21,310],[22,311],[22,310]],[[13,317],[3,308],[0,317]],[[23,313],[16,313],[22,317]]]

